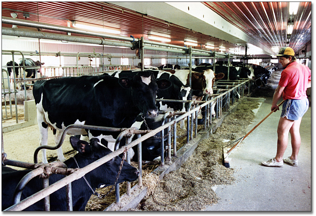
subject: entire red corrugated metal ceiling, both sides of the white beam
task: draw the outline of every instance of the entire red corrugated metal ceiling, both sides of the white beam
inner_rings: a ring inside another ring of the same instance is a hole
[[[268,47],[286,46],[286,25],[289,18],[287,2],[204,2],[210,9],[221,15],[259,42]],[[171,44],[183,46],[185,39],[197,40],[198,44],[207,42],[216,47],[245,47],[225,40],[194,32],[190,29],[166,22],[149,15],[105,2],[2,2],[2,16],[18,14],[19,19],[39,21],[67,26],[67,21],[81,21],[97,25],[119,28],[123,36],[135,38],[153,32],[170,35]],[[29,13],[25,18],[23,12]],[[2,24],[3,27],[11,27]],[[18,27],[27,28],[27,27]],[[44,30],[47,32],[54,32]],[[66,34],[64,32],[58,32]],[[72,34],[76,35],[76,34]],[[299,41],[300,40],[300,41]],[[294,17],[294,30],[289,46],[300,48],[311,40],[311,3],[302,2]],[[196,48],[201,48],[197,46]]]

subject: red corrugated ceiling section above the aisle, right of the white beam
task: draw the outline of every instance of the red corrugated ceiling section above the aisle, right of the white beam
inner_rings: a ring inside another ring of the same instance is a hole
[[[293,32],[287,43],[290,21],[289,2],[204,2],[225,20],[243,30],[266,46],[279,49],[291,46],[294,50],[311,40],[311,2],[300,2],[292,17]]]

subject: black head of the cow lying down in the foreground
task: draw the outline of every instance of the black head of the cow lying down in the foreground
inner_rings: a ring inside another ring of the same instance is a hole
[[[112,151],[99,144],[99,139],[90,139],[90,144],[86,141],[80,140],[76,137],[70,137],[71,146],[78,151],[74,156],[80,168],[91,164],[92,162],[106,156]],[[73,160],[70,158],[68,160]],[[92,188],[103,188],[115,183],[116,176],[119,172],[119,166],[122,162],[122,158],[119,156],[114,157],[105,164],[102,164],[98,168],[92,170],[87,177],[91,183]],[[121,173],[117,183],[129,181],[133,182],[137,180],[139,171],[132,167],[130,164],[124,161]]]

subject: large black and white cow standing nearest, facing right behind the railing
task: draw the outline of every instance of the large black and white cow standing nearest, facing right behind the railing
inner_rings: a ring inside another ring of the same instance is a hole
[[[37,108],[40,145],[47,145],[48,127],[56,129],[56,145],[65,127],[71,124],[129,128],[141,112],[154,118],[158,114],[155,98],[158,86],[149,71],[138,72],[132,79],[111,76],[62,77],[36,81],[33,96]],[[70,129],[70,135],[88,134],[115,142],[113,133]],[[43,149],[43,163],[47,163]],[[58,160],[64,161],[61,148]]]

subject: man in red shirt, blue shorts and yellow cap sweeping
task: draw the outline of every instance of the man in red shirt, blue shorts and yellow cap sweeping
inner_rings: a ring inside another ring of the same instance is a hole
[[[283,167],[283,162],[297,166],[297,155],[301,146],[300,125],[303,115],[308,109],[306,89],[311,87],[311,70],[296,62],[295,52],[286,46],[280,49],[279,62],[286,67],[282,73],[279,84],[274,92],[271,111],[279,110],[277,102],[283,96],[282,114],[277,127],[276,157],[263,161],[261,164],[270,167]],[[291,134],[292,155],[283,158]],[[283,158],[283,159],[282,159]]]

